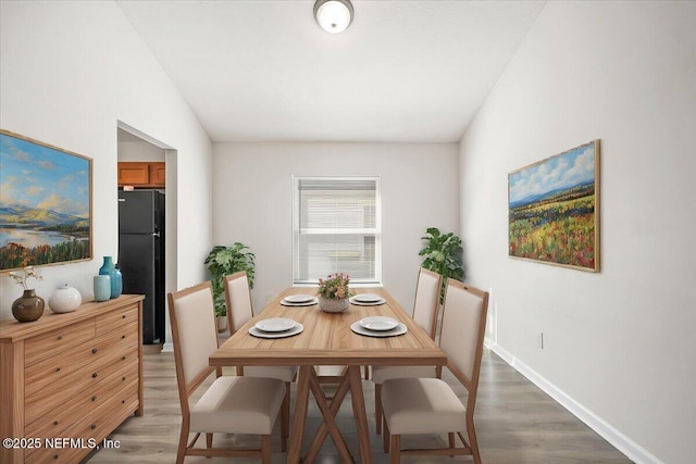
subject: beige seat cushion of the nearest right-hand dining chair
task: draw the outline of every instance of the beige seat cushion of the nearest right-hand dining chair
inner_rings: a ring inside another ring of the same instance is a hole
[[[393,435],[467,430],[464,405],[449,385],[438,378],[385,380],[382,406]]]

